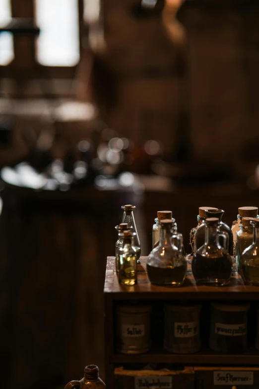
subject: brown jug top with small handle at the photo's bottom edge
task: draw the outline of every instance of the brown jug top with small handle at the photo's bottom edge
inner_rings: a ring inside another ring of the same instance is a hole
[[[101,389],[106,388],[105,383],[99,378],[99,369],[96,365],[89,365],[84,368],[84,377],[80,381],[70,381],[65,389]]]

